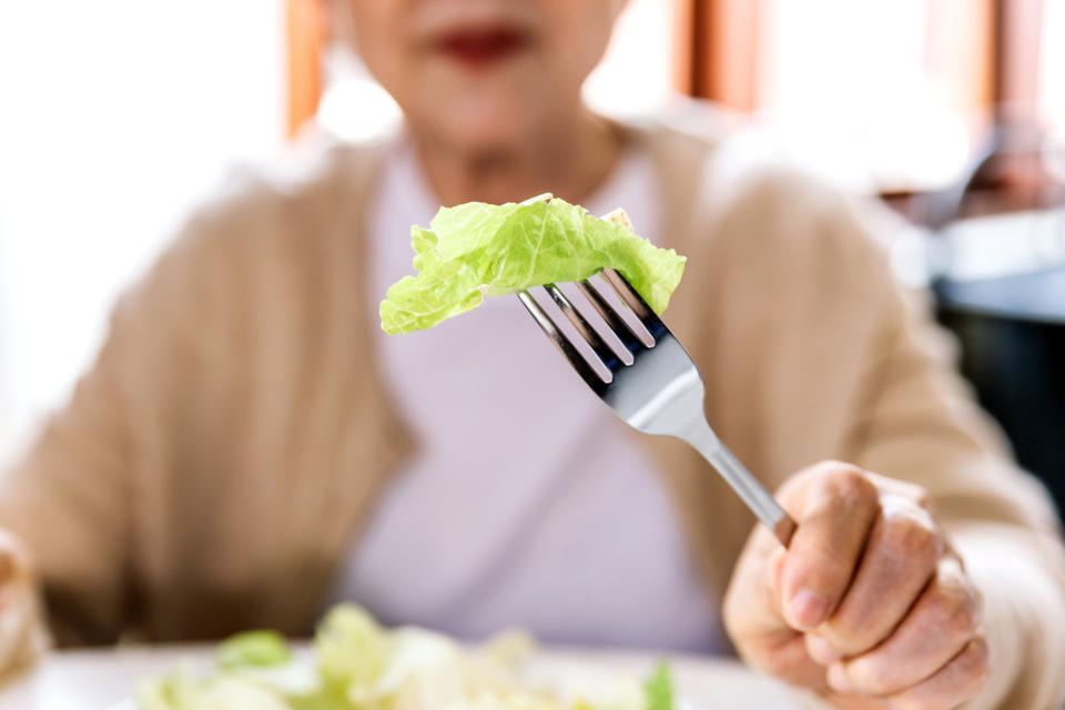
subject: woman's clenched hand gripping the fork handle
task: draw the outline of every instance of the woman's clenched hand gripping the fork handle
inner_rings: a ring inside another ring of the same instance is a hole
[[[724,622],[752,666],[846,709],[954,708],[988,670],[980,595],[924,491],[846,464],[793,476],[788,550],[761,526]]]

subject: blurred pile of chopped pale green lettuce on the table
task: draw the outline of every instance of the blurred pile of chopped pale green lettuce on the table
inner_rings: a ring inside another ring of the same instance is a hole
[[[446,636],[383,629],[363,609],[331,611],[315,637],[315,667],[280,636],[255,631],[223,642],[216,668],[189,667],[144,683],[139,710],[672,710],[669,671],[641,689],[630,679],[545,683],[524,670],[524,635],[467,648]],[[642,690],[642,691],[641,691]]]

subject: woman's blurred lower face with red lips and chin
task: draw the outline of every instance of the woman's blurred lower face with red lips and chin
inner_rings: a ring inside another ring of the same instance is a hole
[[[579,114],[623,0],[347,0],[356,50],[423,139],[464,151]]]

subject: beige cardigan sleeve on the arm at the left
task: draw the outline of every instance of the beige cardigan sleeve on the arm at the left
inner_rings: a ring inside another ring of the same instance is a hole
[[[226,318],[214,253],[224,215],[216,212],[191,220],[120,298],[69,402],[44,422],[21,463],[0,475],[0,529],[29,549],[60,646],[114,642],[135,620],[134,501],[178,449],[176,404],[195,386],[195,363],[212,356],[204,334]],[[39,648],[37,626],[12,659],[31,655],[31,643]]]

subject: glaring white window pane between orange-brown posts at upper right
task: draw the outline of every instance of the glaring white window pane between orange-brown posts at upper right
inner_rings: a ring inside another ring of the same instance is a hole
[[[934,4],[764,0],[757,60],[762,116],[812,162],[858,186],[890,192],[951,183],[986,118],[977,109],[981,89],[973,88],[981,77],[972,75],[981,71],[972,50],[985,48],[960,39],[986,28],[973,27],[976,13],[947,16]],[[970,12],[982,4],[968,2]],[[968,27],[943,27],[962,18]]]

